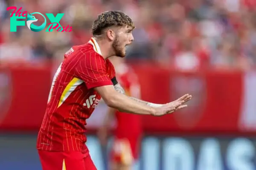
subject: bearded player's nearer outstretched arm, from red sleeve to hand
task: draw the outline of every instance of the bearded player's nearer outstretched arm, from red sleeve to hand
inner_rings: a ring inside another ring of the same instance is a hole
[[[108,106],[118,110],[124,110],[124,112],[128,113],[151,114],[155,116],[172,113],[177,108],[186,107],[186,105],[183,105],[184,101],[182,100],[154,108],[118,93],[113,86],[117,83],[114,84],[107,73],[105,60],[96,52],[93,54],[95,60],[91,60],[90,57],[86,57],[87,54],[82,53],[82,51],[78,51],[78,54],[84,57],[80,57],[81,59],[79,59],[75,69],[75,76],[85,83],[87,89],[97,91]]]

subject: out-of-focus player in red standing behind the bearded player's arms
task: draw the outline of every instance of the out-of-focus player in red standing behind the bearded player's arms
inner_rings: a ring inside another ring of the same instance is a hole
[[[137,75],[125,64],[124,58],[111,57],[110,60],[115,66],[116,78],[124,88],[125,94],[140,99]],[[114,118],[116,118],[116,128],[110,154],[110,170],[131,170],[133,163],[139,157],[142,135],[140,115],[123,113],[109,108],[98,132],[102,145],[107,144],[108,130]]]

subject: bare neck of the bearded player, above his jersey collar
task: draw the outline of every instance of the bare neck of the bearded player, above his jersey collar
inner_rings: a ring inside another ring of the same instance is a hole
[[[101,51],[101,55],[104,59],[107,59],[114,55],[112,45],[109,42],[106,42],[106,40],[104,40],[104,39],[103,40],[97,39],[95,37],[94,37],[94,39],[98,43],[100,51]]]

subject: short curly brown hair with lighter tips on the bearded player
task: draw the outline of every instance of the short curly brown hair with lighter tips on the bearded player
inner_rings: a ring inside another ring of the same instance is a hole
[[[131,18],[122,11],[106,11],[98,15],[93,23],[93,36],[101,35],[105,28],[111,26],[131,26],[135,28]]]

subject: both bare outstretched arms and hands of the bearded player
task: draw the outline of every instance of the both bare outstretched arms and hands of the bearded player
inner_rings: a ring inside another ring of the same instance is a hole
[[[102,96],[102,99],[109,107],[116,108],[117,110],[126,113],[162,116],[164,114],[172,113],[177,109],[187,107],[187,105],[183,105],[183,103],[191,99],[191,96],[186,94],[179,99],[164,105],[145,102],[140,99],[126,96],[123,94],[123,88],[120,88],[121,86],[117,85],[118,82],[115,78],[111,80],[113,85],[103,85],[94,89]],[[119,92],[117,92],[117,90]],[[122,93],[120,93],[120,91]]]

